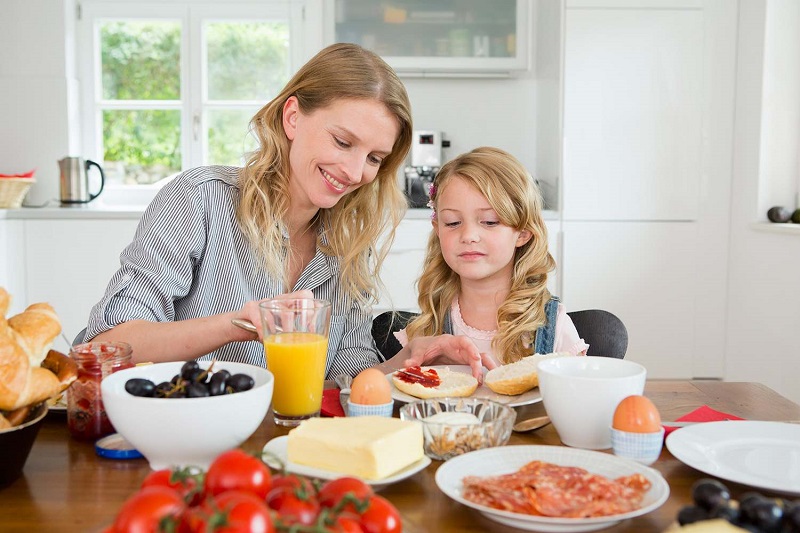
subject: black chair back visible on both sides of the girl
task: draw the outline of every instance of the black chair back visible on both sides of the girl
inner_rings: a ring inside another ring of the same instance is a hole
[[[567,313],[578,334],[589,345],[586,355],[623,359],[628,351],[628,329],[616,315],[602,309],[586,309]],[[391,359],[402,349],[394,332],[400,331],[417,316],[409,311],[385,311],[372,321],[375,339],[383,360]]]

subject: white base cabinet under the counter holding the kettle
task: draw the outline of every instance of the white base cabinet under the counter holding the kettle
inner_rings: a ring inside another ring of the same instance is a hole
[[[133,239],[138,220],[38,219],[24,223],[23,262],[27,303],[49,302],[72,342],[89,311],[119,268],[119,254]],[[56,339],[57,349],[66,342]]]

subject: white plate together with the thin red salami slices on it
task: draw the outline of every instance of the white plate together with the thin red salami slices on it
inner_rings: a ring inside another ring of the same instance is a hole
[[[666,480],[650,467],[563,446],[465,453],[439,467],[436,484],[491,520],[545,532],[604,529],[658,509],[669,497]]]

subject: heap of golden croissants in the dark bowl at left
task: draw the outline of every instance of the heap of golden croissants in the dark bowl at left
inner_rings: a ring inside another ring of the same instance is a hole
[[[6,319],[11,297],[0,287],[0,410],[35,405],[66,389],[77,365],[50,346],[61,322],[50,304],[30,305]]]

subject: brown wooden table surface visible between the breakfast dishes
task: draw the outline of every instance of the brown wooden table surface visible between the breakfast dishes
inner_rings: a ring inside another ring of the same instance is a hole
[[[702,405],[752,420],[800,420],[800,406],[755,383],[649,381],[645,394],[659,408],[664,420],[674,420]],[[520,408],[518,418],[543,412],[541,404],[525,406]],[[260,450],[269,439],[285,433],[268,416],[243,448]],[[515,433],[509,444],[559,445],[560,441],[550,425],[534,433]],[[381,491],[400,510],[406,533],[519,531],[493,522],[445,496],[434,481],[440,464],[433,461],[426,470]],[[672,457],[666,447],[653,467],[669,482],[669,500],[645,516],[605,531],[663,531],[674,521],[678,509],[690,502],[692,483],[707,477]],[[136,491],[149,471],[143,459],[98,457],[92,444],[69,437],[65,415],[50,413],[23,476],[0,489],[0,530],[100,531],[113,521],[122,502]],[[726,482],[726,485],[734,496],[749,490],[736,483]]]

